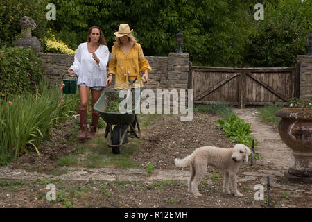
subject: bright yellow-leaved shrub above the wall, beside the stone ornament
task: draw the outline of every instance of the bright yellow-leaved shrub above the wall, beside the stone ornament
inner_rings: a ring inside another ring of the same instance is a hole
[[[60,53],[60,54],[75,54],[76,51],[69,49],[69,47],[62,41],[55,39],[54,35],[45,39],[44,44],[45,53]]]

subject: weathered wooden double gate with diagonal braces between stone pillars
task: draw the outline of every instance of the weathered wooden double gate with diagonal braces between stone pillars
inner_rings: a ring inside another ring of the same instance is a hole
[[[295,97],[295,67],[225,68],[191,67],[194,103],[248,105],[285,103]]]

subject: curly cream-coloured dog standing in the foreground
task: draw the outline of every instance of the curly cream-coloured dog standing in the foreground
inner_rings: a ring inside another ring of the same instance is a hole
[[[224,173],[223,193],[234,194],[234,196],[243,196],[237,190],[236,173],[245,159],[248,162],[250,148],[243,144],[236,144],[234,148],[218,148],[214,146],[203,146],[197,148],[191,155],[184,159],[175,159],[177,167],[191,167],[191,176],[187,184],[187,191],[192,191],[194,196],[201,196],[198,192],[198,185],[204,178],[207,171],[207,165],[215,167]],[[231,184],[231,191],[229,191]]]

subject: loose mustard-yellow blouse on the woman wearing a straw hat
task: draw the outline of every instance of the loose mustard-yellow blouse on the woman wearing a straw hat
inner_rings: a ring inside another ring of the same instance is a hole
[[[147,70],[150,72],[152,68],[150,67],[148,60],[144,57],[141,45],[139,43],[134,44],[127,55],[116,46],[112,46],[112,54],[110,56],[110,65],[108,68],[109,74],[115,75],[115,88],[116,89],[128,89],[128,71],[130,74],[137,75],[137,80],[132,85],[135,87],[136,83],[140,83],[142,87],[140,72]],[[132,78],[131,78],[132,80]],[[138,85],[136,86],[138,87]]]

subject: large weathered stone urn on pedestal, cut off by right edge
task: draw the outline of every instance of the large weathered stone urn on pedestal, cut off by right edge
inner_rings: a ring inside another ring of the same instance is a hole
[[[312,109],[284,108],[275,112],[281,117],[279,135],[293,150],[295,164],[284,173],[291,182],[312,183]]]

